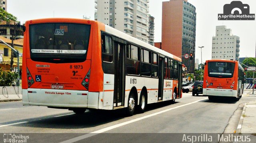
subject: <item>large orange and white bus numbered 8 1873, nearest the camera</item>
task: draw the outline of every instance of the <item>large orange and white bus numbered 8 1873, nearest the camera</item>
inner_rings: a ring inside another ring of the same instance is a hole
[[[22,101],[83,113],[182,97],[181,59],[93,20],[49,18],[25,24]]]

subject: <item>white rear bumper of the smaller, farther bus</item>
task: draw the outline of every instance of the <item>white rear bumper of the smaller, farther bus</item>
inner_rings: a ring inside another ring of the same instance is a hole
[[[237,96],[237,90],[203,88],[203,95],[206,95],[206,96],[236,97]]]

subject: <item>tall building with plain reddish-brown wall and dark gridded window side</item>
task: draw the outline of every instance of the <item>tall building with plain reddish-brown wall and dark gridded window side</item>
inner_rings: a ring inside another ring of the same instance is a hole
[[[196,43],[196,8],[187,0],[162,2],[162,46],[161,49],[177,57],[193,53]],[[195,59],[182,63],[190,72],[194,71]]]

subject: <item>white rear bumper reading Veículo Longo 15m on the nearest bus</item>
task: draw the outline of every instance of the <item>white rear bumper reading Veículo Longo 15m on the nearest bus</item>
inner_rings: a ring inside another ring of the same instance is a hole
[[[98,109],[99,92],[82,90],[23,89],[23,105]]]

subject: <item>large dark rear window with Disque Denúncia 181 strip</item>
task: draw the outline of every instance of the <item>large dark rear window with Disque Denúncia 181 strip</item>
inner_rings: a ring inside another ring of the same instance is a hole
[[[86,60],[90,25],[71,23],[29,26],[30,57],[33,61],[74,63]]]

